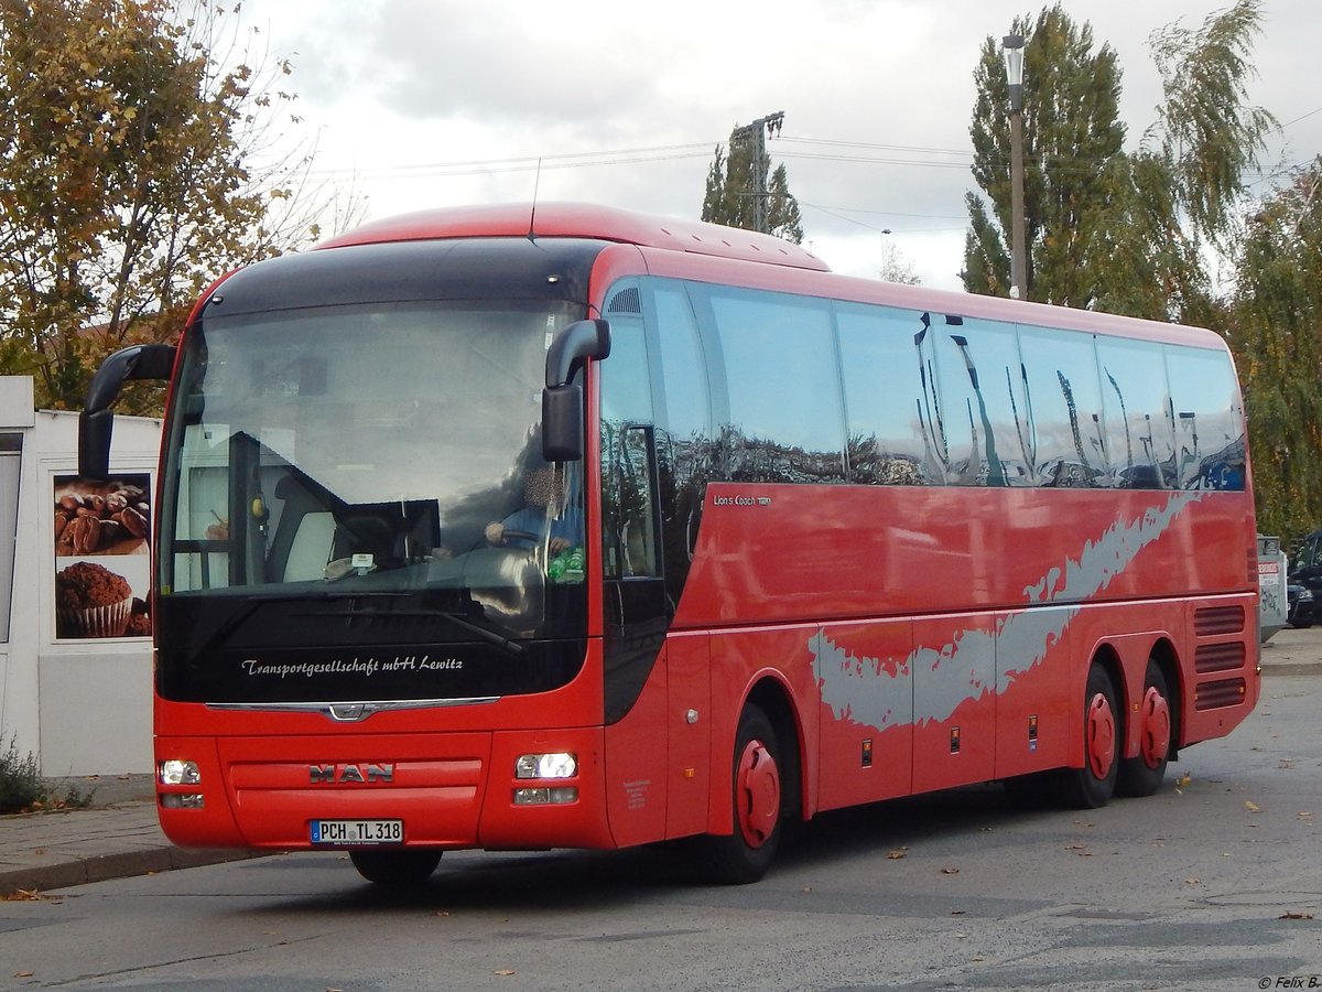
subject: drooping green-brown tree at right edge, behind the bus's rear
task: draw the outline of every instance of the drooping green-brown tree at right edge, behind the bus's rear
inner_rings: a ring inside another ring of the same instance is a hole
[[[1232,317],[1259,530],[1289,549],[1322,525],[1322,157],[1249,218]]]

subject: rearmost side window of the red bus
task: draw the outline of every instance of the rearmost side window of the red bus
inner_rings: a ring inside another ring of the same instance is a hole
[[[1166,348],[1175,427],[1175,484],[1186,489],[1244,488],[1244,415],[1229,356]]]

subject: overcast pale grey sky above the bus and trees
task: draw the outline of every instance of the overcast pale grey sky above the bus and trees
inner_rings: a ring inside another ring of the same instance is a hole
[[[1155,120],[1149,36],[1227,3],[1066,0],[1124,71],[1126,147]],[[1249,99],[1284,126],[1255,192],[1322,152],[1322,7],[1263,0]],[[473,202],[587,200],[698,217],[731,128],[784,111],[768,142],[805,245],[875,276],[890,250],[960,288],[973,69],[1010,0],[249,0],[288,56],[316,177],[368,218]],[[538,160],[541,168],[538,169]],[[1257,179],[1257,177],[1255,177]],[[883,231],[888,230],[890,234]]]

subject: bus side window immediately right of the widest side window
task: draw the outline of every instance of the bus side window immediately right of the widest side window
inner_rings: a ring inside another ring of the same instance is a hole
[[[849,477],[854,483],[921,485],[944,477],[923,410],[919,315],[839,304],[836,311]]]

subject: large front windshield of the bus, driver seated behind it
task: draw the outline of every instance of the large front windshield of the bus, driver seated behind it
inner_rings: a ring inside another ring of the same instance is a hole
[[[582,561],[582,476],[542,460],[539,419],[547,344],[582,313],[465,300],[198,321],[172,399],[157,574],[161,612],[202,631],[182,639],[190,661],[276,644],[279,603],[295,600],[373,603],[357,630],[321,624],[328,644],[580,632],[550,586],[582,582],[563,561]]]

